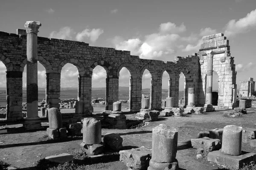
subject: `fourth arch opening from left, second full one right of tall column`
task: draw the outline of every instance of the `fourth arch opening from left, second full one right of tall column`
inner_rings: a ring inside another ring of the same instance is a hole
[[[106,106],[106,76],[102,66],[96,66],[92,75],[92,105],[93,112],[102,112]]]

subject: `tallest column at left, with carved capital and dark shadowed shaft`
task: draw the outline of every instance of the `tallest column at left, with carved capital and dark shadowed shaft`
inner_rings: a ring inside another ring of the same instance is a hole
[[[25,23],[27,33],[27,118],[24,123],[26,129],[41,127],[38,116],[38,55],[37,34],[41,23],[38,21],[27,21]]]

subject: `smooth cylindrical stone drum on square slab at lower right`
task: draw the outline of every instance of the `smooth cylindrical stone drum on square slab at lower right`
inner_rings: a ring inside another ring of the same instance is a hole
[[[226,155],[240,155],[242,147],[242,127],[227,125],[223,129],[221,152]]]

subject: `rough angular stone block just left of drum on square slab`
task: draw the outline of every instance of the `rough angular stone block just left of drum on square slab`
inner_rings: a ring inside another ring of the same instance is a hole
[[[208,137],[191,139],[193,148],[198,150],[198,154],[208,154],[213,150],[219,150],[221,148],[221,141],[219,139],[211,139]]]

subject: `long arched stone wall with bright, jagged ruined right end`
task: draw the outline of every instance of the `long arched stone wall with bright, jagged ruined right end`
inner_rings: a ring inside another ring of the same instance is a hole
[[[7,120],[22,118],[22,73],[27,63],[26,34],[0,32],[0,61],[6,66]],[[168,97],[179,101],[180,73],[185,75],[184,105],[187,105],[188,89],[195,88],[195,105],[209,104],[212,71],[218,74],[218,106],[232,108],[236,104],[236,71],[234,58],[230,56],[229,41],[223,34],[203,37],[198,53],[188,57],[175,57],[175,61],[141,59],[129,51],[89,46],[88,43],[38,37],[38,62],[46,70],[46,99],[49,107],[60,107],[60,79],[62,67],[67,63],[79,71],[78,100],[84,102],[84,110],[90,112],[92,74],[96,66],[102,66],[106,77],[106,109],[118,101],[119,72],[125,67],[130,76],[131,111],[141,109],[142,76],[145,69],[151,73],[150,108],[161,109],[162,76],[169,74]],[[208,82],[208,83],[207,83]],[[207,103],[208,102],[208,103]]]

